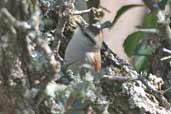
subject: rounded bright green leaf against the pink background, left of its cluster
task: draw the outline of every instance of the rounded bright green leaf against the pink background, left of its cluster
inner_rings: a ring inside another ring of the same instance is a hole
[[[126,54],[130,57],[133,55],[134,50],[137,48],[141,38],[144,36],[142,32],[134,32],[126,38],[123,47]]]

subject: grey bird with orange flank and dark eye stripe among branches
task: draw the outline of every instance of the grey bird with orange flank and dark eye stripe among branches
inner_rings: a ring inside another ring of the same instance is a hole
[[[64,55],[64,67],[74,74],[82,65],[88,64],[99,72],[101,70],[101,48],[104,28],[110,28],[111,22],[95,23],[86,27],[79,26],[72,36]]]

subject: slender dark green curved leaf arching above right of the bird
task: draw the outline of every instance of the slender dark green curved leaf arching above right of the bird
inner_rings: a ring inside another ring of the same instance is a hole
[[[115,23],[118,21],[118,19],[129,9],[135,8],[135,7],[140,7],[140,6],[144,6],[142,4],[131,4],[131,5],[125,5],[123,7],[121,7],[118,11],[116,16],[114,17],[114,20],[112,21],[112,26],[115,25]]]

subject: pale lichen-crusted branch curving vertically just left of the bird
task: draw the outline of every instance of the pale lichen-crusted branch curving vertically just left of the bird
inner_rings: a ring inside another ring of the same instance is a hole
[[[55,56],[53,55],[53,52],[51,51],[48,43],[41,38],[37,38],[36,44],[38,48],[40,48],[45,53],[45,57],[48,60],[48,66],[47,69],[47,75],[46,78],[40,83],[41,89],[39,93],[36,96],[36,105],[39,106],[39,104],[42,101],[42,97],[44,97],[44,90],[49,82],[52,80],[56,80],[59,78],[59,72],[60,72],[60,63],[56,61]]]

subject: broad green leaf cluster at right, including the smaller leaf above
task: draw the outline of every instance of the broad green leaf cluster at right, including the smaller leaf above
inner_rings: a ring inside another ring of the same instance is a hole
[[[157,19],[152,13],[148,13],[144,17],[143,27],[146,32],[137,31],[134,32],[126,38],[123,43],[124,51],[129,57],[134,58],[134,66],[137,71],[143,71],[148,69],[146,67],[149,59],[149,54],[151,53],[151,47],[148,42],[151,29],[157,29]]]

